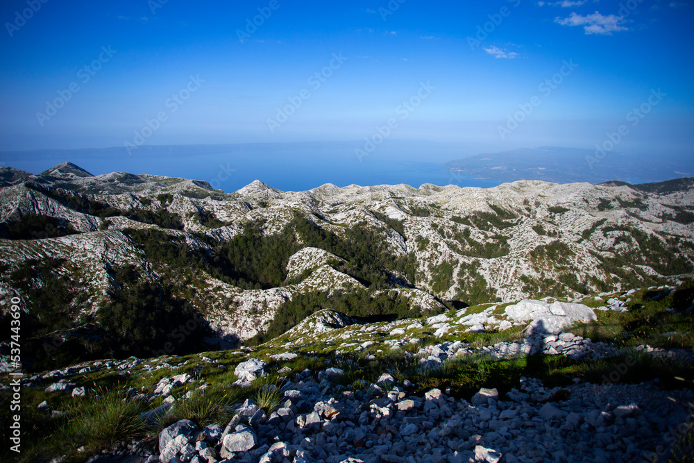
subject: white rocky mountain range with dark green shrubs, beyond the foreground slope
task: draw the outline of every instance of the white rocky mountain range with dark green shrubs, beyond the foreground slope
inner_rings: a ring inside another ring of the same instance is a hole
[[[226,194],[63,163],[0,179],[0,292],[22,299],[27,332],[80,333],[93,355],[248,339],[316,308],[426,314],[694,273],[691,178]],[[205,330],[177,344],[188,321]]]

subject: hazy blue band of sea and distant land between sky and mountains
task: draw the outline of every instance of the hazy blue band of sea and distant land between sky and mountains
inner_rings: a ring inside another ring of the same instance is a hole
[[[388,140],[380,146],[378,155],[355,162],[353,145],[151,145],[133,155],[123,147],[37,150],[25,156],[15,151],[0,152],[0,166],[40,174],[62,162],[72,162],[94,175],[125,171],[189,178],[204,180],[225,192],[234,192],[253,180],[279,190],[304,191],[325,183],[340,187],[400,183],[414,187],[424,183],[494,187],[516,180],[593,184],[620,180],[638,184],[691,176],[694,171],[692,158],[650,162],[649,155],[613,151],[598,160],[593,150],[557,146],[471,154],[455,144],[400,140]]]

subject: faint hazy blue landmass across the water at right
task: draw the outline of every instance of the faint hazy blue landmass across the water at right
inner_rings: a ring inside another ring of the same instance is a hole
[[[691,161],[688,164],[691,169]],[[656,182],[688,175],[682,172],[682,163],[675,160],[557,146],[477,154],[446,162],[444,166],[452,172],[502,182],[544,180],[555,183],[602,183],[632,179]]]

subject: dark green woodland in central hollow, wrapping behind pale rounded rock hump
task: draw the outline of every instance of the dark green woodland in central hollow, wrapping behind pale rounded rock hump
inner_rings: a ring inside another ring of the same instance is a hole
[[[183,238],[162,230],[127,229],[125,233],[142,246],[147,258],[160,267],[203,270],[242,289],[279,287],[287,279],[287,262],[291,255],[306,246],[324,249],[344,260],[338,269],[357,278],[364,285],[391,286],[393,273],[414,277],[415,262],[391,255],[382,230],[371,230],[364,224],[345,228],[345,237],[325,230],[313,221],[296,215],[276,235],[264,235],[260,224],[248,223],[232,239],[214,242],[198,235],[212,246],[205,255],[189,249]]]

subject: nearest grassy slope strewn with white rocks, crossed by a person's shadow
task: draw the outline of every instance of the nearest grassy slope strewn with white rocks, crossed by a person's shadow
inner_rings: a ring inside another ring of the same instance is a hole
[[[321,310],[257,348],[81,362],[19,380],[24,426],[64,431],[20,461],[691,461],[693,312],[691,282],[375,323]],[[636,345],[661,335],[686,348]],[[111,423],[105,400],[144,428],[113,446],[72,424]]]

